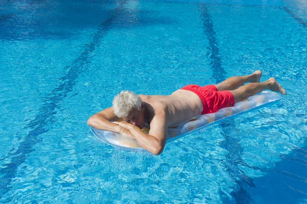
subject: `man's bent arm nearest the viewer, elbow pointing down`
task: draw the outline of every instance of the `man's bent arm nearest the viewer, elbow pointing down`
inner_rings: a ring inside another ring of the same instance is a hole
[[[146,134],[138,126],[126,122],[114,122],[119,126],[128,129],[133,137],[137,140],[139,145],[151,152],[152,154],[161,154],[164,150],[167,139],[167,124],[165,114],[160,114],[150,122],[149,133]]]

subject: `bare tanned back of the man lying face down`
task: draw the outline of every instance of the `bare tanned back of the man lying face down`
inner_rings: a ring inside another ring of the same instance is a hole
[[[149,113],[152,117],[165,112],[168,127],[192,119],[200,115],[203,110],[201,99],[189,90],[179,89],[169,96],[140,95],[140,98],[143,102],[152,106],[154,112]],[[150,111],[150,108],[148,110]]]

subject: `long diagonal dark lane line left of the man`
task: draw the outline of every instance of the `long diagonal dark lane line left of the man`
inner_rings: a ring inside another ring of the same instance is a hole
[[[121,14],[125,2],[126,0],[121,1],[117,8],[111,10],[109,13],[110,17],[101,22],[96,33],[93,35],[92,41],[85,44],[85,49],[80,56],[70,65],[64,67],[64,70],[69,70],[68,73],[60,78],[60,84],[44,99],[45,102],[39,109],[39,114],[28,124],[27,127],[33,129],[28,133],[25,140],[20,142],[17,149],[12,148],[8,152],[6,158],[12,158],[10,163],[5,164],[0,169],[0,175],[3,176],[0,178],[0,197],[12,189],[12,187],[8,186],[16,176],[18,167],[25,162],[29,153],[35,150],[33,146],[42,141],[42,138],[37,137],[48,132],[48,126],[57,121],[55,118],[56,109],[60,109],[63,99],[67,97],[68,93],[72,92],[78,75],[91,62],[92,52],[100,44],[100,41],[108,33],[109,29],[112,28],[112,23]]]

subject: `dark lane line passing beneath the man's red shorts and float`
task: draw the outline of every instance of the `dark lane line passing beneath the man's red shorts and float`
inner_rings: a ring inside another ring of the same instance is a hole
[[[225,80],[226,71],[222,67],[222,59],[220,57],[221,55],[218,49],[217,39],[215,37],[216,33],[214,31],[213,21],[206,5],[200,5],[200,11],[201,18],[204,22],[204,33],[209,41],[208,50],[211,51],[210,59],[212,62],[210,64],[213,71],[212,77],[215,79],[216,83],[219,83]],[[244,184],[255,187],[253,180],[237,167],[238,164],[248,166],[242,159],[243,148],[240,146],[239,140],[230,136],[232,135],[234,129],[236,129],[235,122],[233,119],[229,119],[227,121],[223,121],[221,126],[221,133],[225,138],[225,140],[221,142],[221,147],[228,151],[226,161],[221,160],[221,163],[225,166],[227,173],[236,183],[231,195],[236,200],[236,203],[246,204],[253,202],[254,200],[252,199],[251,195],[244,189]],[[244,177],[244,180],[237,180],[238,177]]]

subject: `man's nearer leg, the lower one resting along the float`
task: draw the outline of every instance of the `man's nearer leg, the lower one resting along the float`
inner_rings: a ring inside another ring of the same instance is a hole
[[[270,78],[269,80],[262,83],[249,83],[244,86],[241,86],[235,90],[230,90],[234,96],[234,101],[239,102],[247,99],[250,96],[253,96],[262,90],[270,89],[274,92],[279,92],[283,95],[286,95],[286,90],[284,90],[281,85],[276,81],[275,78]]]

